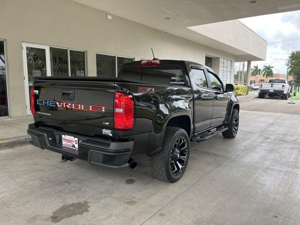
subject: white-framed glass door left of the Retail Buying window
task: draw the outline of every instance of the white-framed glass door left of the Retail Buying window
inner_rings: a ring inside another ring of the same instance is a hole
[[[49,46],[23,43],[24,83],[27,115],[30,112],[30,90],[35,77],[51,76],[49,61]]]

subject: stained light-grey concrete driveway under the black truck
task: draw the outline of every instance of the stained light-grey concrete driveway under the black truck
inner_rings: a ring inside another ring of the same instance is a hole
[[[153,178],[146,155],[134,170],[111,170],[29,145],[0,151],[1,224],[299,224],[300,139],[290,128],[300,116],[240,118],[235,139],[191,143],[174,184]]]

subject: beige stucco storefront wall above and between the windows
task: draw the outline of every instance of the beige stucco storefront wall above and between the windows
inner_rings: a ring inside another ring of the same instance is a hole
[[[22,42],[86,50],[87,75],[96,76],[96,52],[140,58],[191,60],[204,64],[205,54],[234,55],[164,34],[130,20],[68,0],[1,0],[0,38],[7,44],[10,116],[25,116]],[[155,22],[155,21],[153,21]],[[233,70],[232,70],[233,71]]]

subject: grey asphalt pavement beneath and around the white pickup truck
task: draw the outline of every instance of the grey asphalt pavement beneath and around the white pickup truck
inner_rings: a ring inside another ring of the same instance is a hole
[[[249,92],[248,95],[238,96],[238,101],[240,101],[241,110],[300,115],[300,99],[294,99],[295,104],[287,104],[291,98],[281,100],[280,97],[266,96],[262,99],[258,98],[258,92]]]

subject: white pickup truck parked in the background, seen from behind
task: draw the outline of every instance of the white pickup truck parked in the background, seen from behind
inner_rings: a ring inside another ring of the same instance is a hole
[[[259,85],[258,98],[280,96],[287,100],[291,95],[291,86],[287,79],[271,77],[267,83]]]

